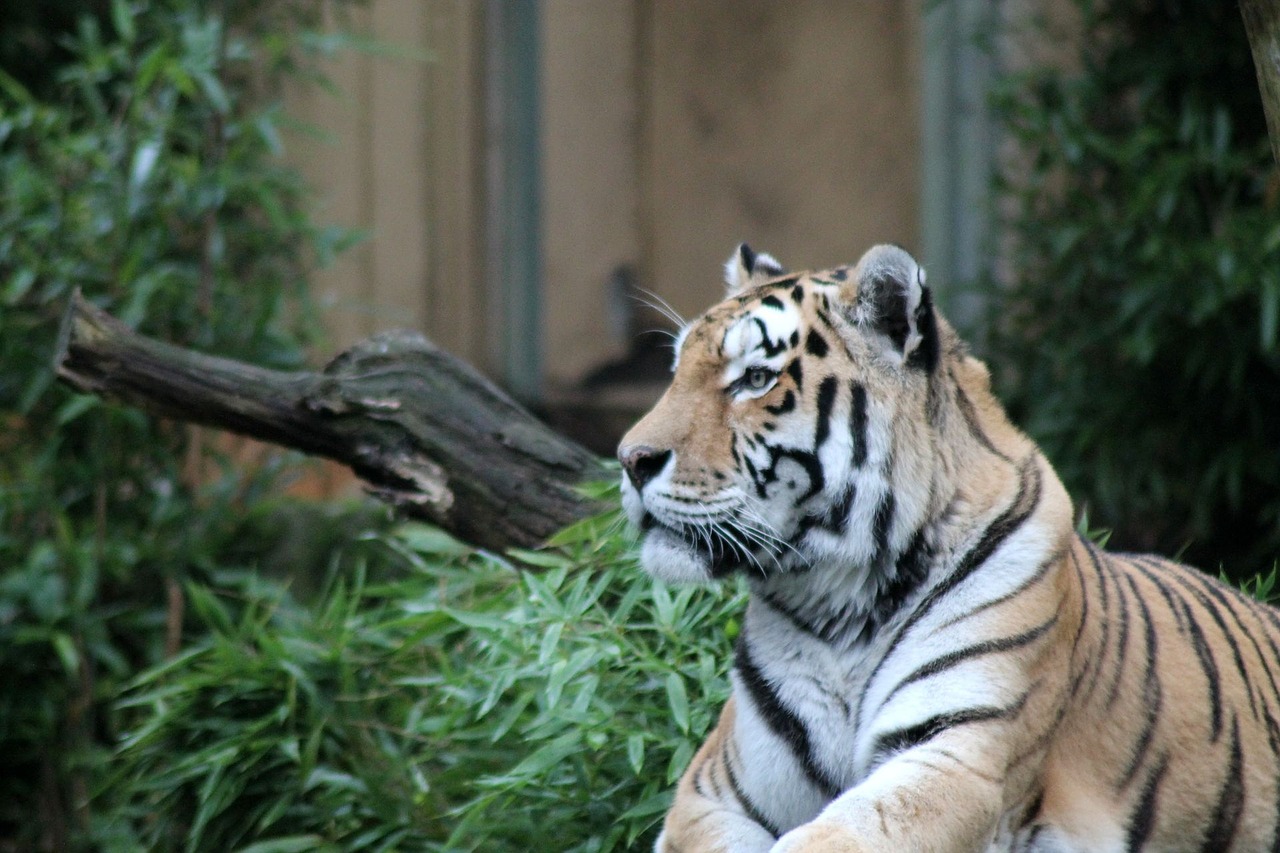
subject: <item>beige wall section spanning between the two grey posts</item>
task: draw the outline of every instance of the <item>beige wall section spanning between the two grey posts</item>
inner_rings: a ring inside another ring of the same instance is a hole
[[[691,316],[739,241],[856,260],[918,231],[918,9],[902,0],[544,5],[547,370],[625,341],[617,264]],[[635,133],[632,137],[631,133]]]

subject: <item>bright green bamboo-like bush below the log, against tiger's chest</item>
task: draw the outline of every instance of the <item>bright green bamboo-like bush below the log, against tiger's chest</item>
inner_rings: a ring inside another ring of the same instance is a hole
[[[593,519],[526,571],[411,525],[311,607],[191,587],[209,637],[124,693],[104,807],[147,849],[648,849],[727,697],[744,593],[668,592]],[[111,804],[119,799],[123,804]]]

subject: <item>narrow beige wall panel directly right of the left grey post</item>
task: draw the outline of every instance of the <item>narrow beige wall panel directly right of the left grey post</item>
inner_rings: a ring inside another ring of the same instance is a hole
[[[626,346],[608,283],[640,263],[637,4],[543,4],[543,348],[552,386]]]

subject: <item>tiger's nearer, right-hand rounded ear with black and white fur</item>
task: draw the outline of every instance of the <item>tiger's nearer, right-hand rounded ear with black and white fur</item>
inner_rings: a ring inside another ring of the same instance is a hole
[[[932,371],[938,329],[924,269],[899,246],[873,246],[841,288],[850,319],[884,341],[902,364]]]

